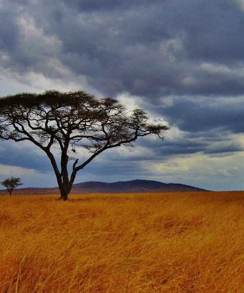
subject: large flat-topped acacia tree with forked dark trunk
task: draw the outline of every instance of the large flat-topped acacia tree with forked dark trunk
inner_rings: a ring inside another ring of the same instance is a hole
[[[117,100],[97,99],[84,91],[48,90],[0,98],[0,138],[30,141],[40,147],[50,159],[63,200],[67,200],[77,172],[104,150],[134,146],[138,137],[149,134],[163,140],[167,129],[149,123],[142,109],[127,113]],[[54,146],[60,149],[60,162],[54,156]],[[81,163],[74,159],[78,147],[88,150]]]

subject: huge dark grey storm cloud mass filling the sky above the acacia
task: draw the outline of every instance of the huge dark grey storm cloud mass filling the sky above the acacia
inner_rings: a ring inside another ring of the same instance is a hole
[[[86,75],[104,95],[127,91],[155,103],[167,94],[244,91],[244,17],[235,1],[6,3],[9,10],[17,5],[19,17],[26,18],[27,13],[46,36],[56,36],[62,44],[61,51],[40,45],[36,58],[27,56],[18,39],[15,13],[7,30],[8,35],[13,32],[13,40],[6,43],[9,52],[12,43],[19,44],[18,52],[11,53],[13,63],[32,64],[34,70],[50,75],[34,65],[52,56],[76,74]],[[32,45],[32,39],[26,42]]]

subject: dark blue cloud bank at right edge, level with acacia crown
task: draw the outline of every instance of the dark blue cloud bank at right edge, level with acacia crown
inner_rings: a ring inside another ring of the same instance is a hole
[[[242,99],[175,99],[174,105],[158,108],[158,113],[167,118],[170,125],[182,131],[211,133],[216,131],[244,132],[244,114]]]

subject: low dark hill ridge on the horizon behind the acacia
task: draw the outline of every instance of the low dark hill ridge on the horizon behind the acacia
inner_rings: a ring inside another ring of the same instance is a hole
[[[208,191],[179,183],[163,183],[153,180],[131,180],[113,183],[89,181],[74,184],[72,193],[131,193],[131,192],[178,192],[178,191]],[[6,190],[0,190],[5,194]],[[59,194],[59,188],[18,188],[13,194]]]

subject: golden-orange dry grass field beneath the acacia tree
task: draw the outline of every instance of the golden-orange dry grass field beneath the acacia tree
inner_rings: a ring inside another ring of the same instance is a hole
[[[0,196],[0,293],[243,293],[244,192]]]

